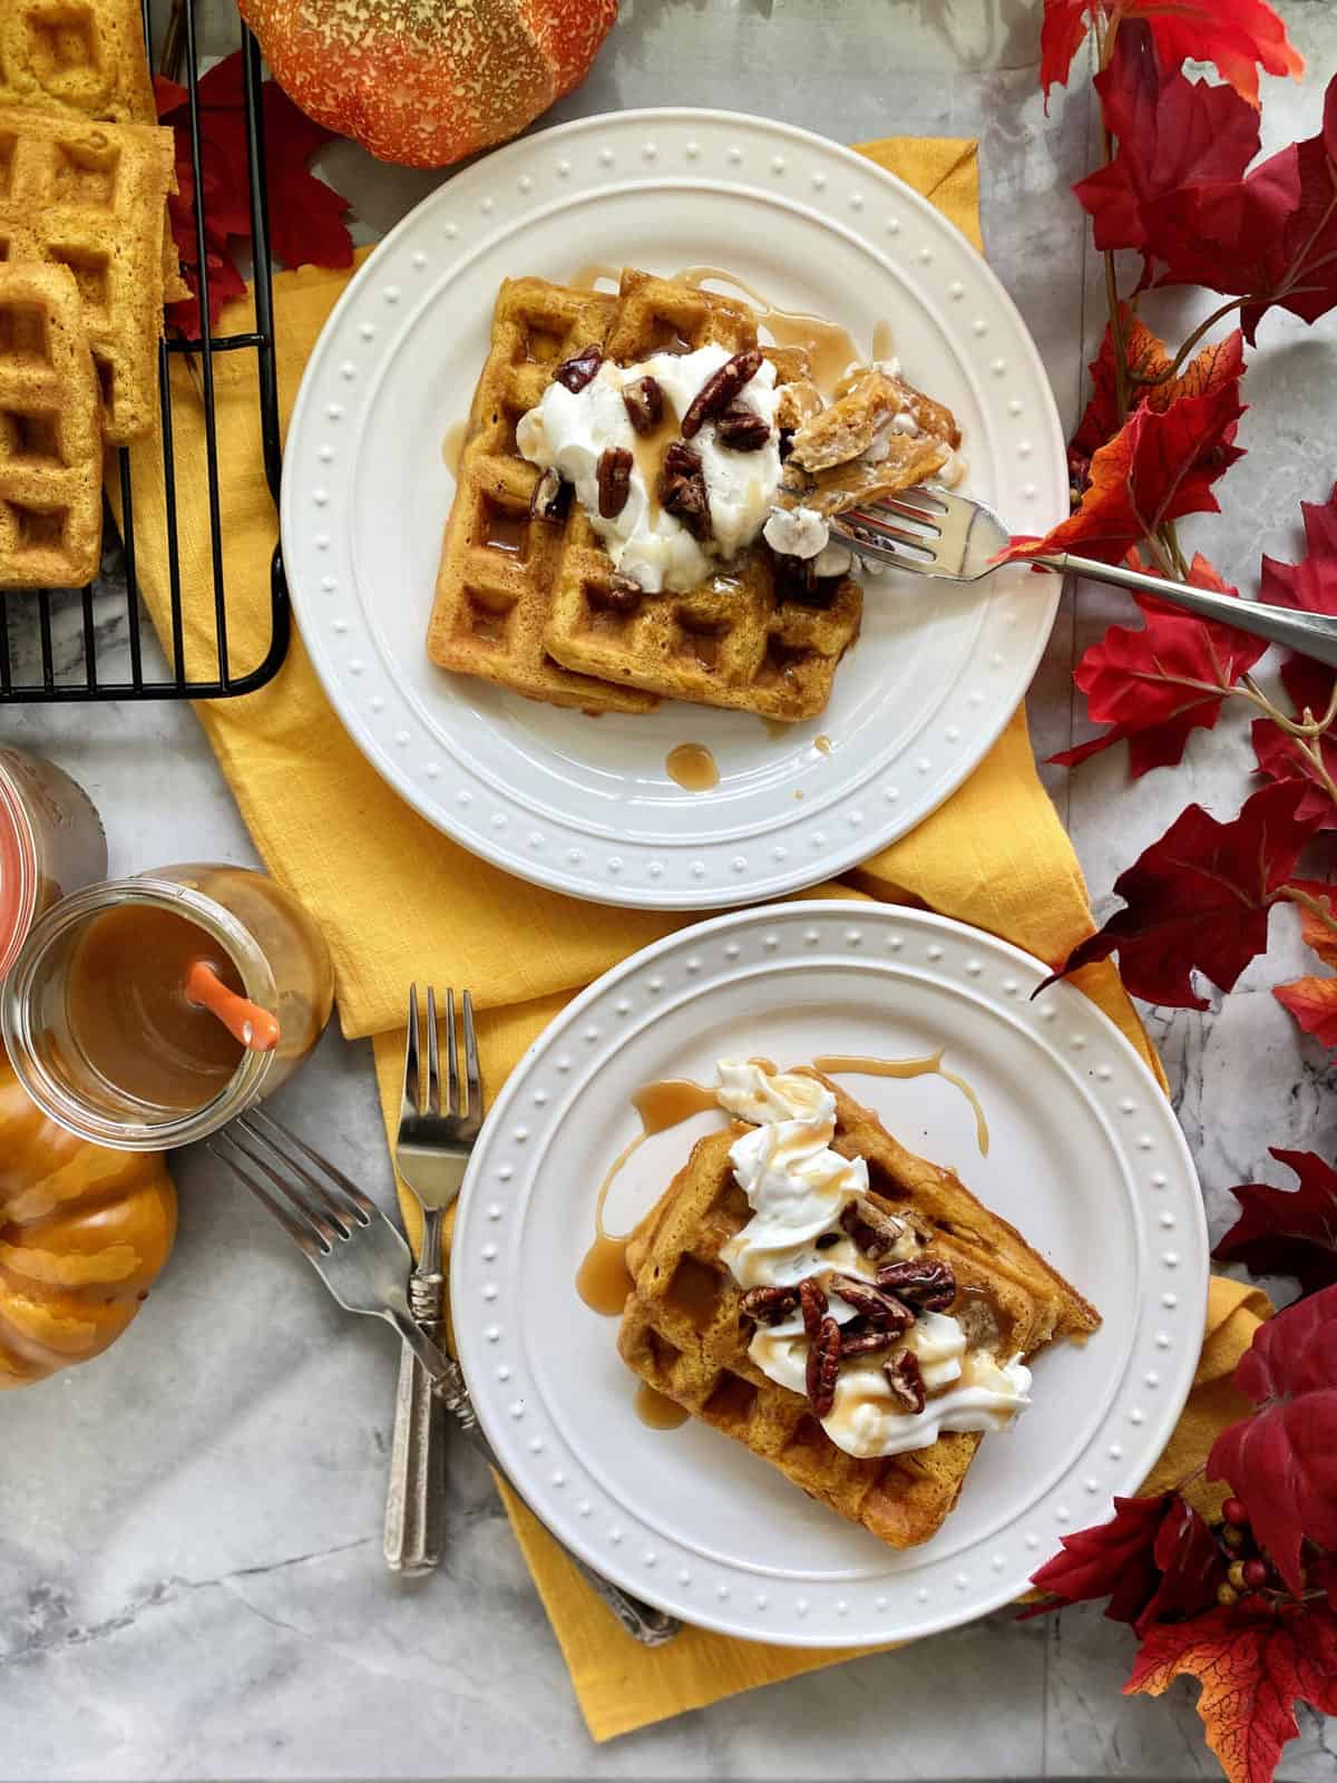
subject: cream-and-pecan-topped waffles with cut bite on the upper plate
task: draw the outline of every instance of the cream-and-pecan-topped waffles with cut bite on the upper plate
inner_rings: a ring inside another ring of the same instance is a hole
[[[827,519],[941,472],[957,444],[886,367],[852,369],[827,405],[802,349],[763,344],[720,292],[635,269],[617,294],[508,280],[428,654],[590,711],[815,717],[863,612]]]

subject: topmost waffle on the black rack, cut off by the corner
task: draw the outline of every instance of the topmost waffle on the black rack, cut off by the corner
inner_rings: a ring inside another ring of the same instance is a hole
[[[139,0],[5,0],[0,105],[155,123]]]

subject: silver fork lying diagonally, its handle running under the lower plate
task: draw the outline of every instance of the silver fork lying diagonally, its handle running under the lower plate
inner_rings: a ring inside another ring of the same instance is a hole
[[[278,1220],[316,1268],[340,1307],[387,1319],[412,1348],[483,1460],[504,1478],[492,1444],[474,1416],[460,1364],[428,1337],[408,1311],[405,1282],[412,1268],[408,1243],[376,1202],[271,1114],[251,1109],[214,1139],[209,1150],[226,1164]],[[647,1647],[661,1647],[679,1630],[676,1617],[642,1603],[569,1555],[622,1628]]]

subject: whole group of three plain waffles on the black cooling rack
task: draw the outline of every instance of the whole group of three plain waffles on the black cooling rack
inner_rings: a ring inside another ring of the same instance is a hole
[[[153,430],[162,305],[184,294],[169,191],[137,0],[7,0],[0,587],[96,574],[103,440]]]

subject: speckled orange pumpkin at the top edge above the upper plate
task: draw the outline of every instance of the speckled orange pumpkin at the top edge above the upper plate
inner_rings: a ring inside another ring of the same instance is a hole
[[[617,0],[239,0],[278,84],[381,160],[444,168],[570,93]]]

